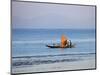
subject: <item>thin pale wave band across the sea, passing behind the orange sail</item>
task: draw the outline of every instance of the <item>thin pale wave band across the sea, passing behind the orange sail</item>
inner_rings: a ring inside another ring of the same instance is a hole
[[[95,42],[95,39],[72,39],[72,42]],[[38,44],[38,43],[60,43],[60,40],[34,40],[34,41],[12,41],[13,44]]]

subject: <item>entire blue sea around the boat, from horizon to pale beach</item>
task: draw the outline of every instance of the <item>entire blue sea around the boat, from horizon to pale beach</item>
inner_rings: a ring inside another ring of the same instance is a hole
[[[75,48],[47,48],[67,36]],[[74,62],[95,57],[95,29],[13,29],[13,66]]]

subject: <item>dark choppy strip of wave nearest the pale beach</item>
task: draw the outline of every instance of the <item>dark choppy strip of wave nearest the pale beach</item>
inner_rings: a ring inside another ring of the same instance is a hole
[[[80,59],[57,59],[57,60],[19,60],[13,62],[13,66],[25,66],[25,65],[39,65],[39,64],[50,64],[50,63],[59,63],[59,62],[73,62]]]

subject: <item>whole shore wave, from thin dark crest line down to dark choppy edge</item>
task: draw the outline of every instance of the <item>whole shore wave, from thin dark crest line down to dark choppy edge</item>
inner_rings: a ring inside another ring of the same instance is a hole
[[[27,65],[51,64],[59,62],[74,62],[84,60],[83,58],[88,57],[89,55],[95,55],[95,53],[19,56],[12,57],[12,66],[20,67]]]

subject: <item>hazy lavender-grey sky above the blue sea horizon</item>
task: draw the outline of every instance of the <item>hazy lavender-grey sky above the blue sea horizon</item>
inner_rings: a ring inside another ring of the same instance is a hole
[[[95,6],[12,2],[12,27],[32,29],[93,29]]]

